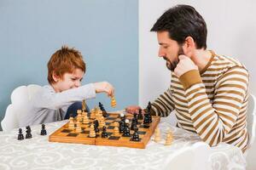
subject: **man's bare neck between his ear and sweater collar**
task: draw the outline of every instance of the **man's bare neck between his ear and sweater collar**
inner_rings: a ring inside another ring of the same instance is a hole
[[[195,65],[198,66],[199,71],[202,71],[207,66],[211,58],[212,58],[211,51],[208,51],[205,49],[195,49],[195,53],[191,57]]]

